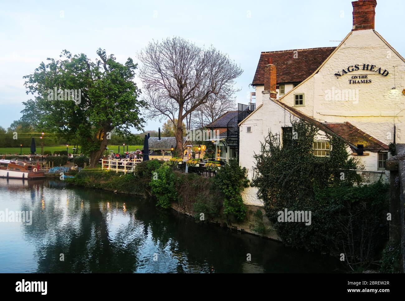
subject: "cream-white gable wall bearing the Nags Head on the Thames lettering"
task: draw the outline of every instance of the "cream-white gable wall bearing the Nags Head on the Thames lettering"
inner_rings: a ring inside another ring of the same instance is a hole
[[[384,77],[360,68],[335,77],[335,73],[354,64],[374,64],[389,74]],[[372,82],[350,84],[348,80],[355,74],[367,74]],[[392,90],[394,85],[396,89]],[[303,93],[305,107],[296,107],[298,110],[321,122],[350,122],[386,144],[394,139],[395,122],[396,142],[405,143],[404,88],[405,62],[373,30],[358,30],[351,32],[316,75],[280,101],[294,106],[294,94]],[[332,92],[335,97],[329,98]],[[337,100],[339,95],[344,99]]]

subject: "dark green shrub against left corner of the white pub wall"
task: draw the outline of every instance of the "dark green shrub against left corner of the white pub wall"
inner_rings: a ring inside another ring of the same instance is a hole
[[[236,159],[229,161],[221,167],[215,176],[215,185],[224,194],[224,213],[233,215],[238,221],[246,216],[246,206],[243,203],[241,192],[247,185],[246,168],[241,168]]]

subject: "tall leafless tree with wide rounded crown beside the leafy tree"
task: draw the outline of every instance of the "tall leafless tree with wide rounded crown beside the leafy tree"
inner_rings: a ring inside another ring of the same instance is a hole
[[[190,115],[198,107],[212,96],[232,95],[234,80],[243,72],[214,47],[201,48],[179,37],[149,43],[138,58],[147,116],[171,120],[178,152],[183,152],[183,121],[190,128]]]

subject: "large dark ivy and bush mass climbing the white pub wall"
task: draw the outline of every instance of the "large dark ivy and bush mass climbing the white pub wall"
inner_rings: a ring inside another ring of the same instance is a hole
[[[295,137],[283,141],[269,133],[256,154],[252,185],[258,187],[266,216],[286,245],[335,256],[345,254],[350,268],[376,263],[388,235],[388,187],[382,182],[354,186],[360,181],[352,169],[345,142],[326,134],[330,157],[313,155],[319,129],[292,120]],[[294,139],[296,138],[296,139]],[[311,224],[279,222],[279,211],[311,211]]]

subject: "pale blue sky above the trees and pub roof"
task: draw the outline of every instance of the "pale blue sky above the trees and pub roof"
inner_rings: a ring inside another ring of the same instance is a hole
[[[405,55],[403,0],[377,0],[375,29]],[[352,29],[350,0],[0,1],[0,126],[21,117],[23,76],[62,49],[96,49],[137,62],[152,39],[181,36],[214,45],[243,68],[237,102],[247,103],[261,51],[337,46]],[[149,121],[147,130],[159,122]]]

